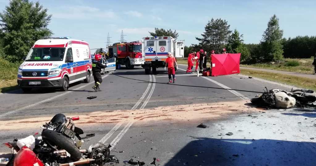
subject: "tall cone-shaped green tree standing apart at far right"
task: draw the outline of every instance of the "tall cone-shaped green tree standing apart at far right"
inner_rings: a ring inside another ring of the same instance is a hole
[[[261,45],[264,61],[283,59],[282,36],[283,30],[280,30],[279,19],[274,14],[262,35]]]

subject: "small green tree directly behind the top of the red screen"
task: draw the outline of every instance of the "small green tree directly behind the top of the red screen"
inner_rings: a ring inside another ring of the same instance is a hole
[[[231,53],[237,53],[237,48],[241,47],[241,45],[243,44],[244,40],[242,38],[243,35],[240,35],[237,29],[235,29],[235,31],[228,37],[226,50]]]

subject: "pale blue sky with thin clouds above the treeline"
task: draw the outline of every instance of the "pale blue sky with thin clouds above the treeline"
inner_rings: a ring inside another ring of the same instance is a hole
[[[136,41],[149,36],[154,27],[179,32],[186,45],[197,43],[208,20],[222,18],[230,29],[244,34],[245,43],[259,43],[273,14],[280,19],[283,37],[315,35],[315,0],[40,0],[52,14],[49,25],[54,37],[85,40],[90,48],[105,48],[107,33],[112,42]],[[8,0],[0,0],[2,11]]]

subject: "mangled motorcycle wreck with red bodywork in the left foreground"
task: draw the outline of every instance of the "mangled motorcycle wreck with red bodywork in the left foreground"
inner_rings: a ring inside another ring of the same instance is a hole
[[[82,129],[75,127],[73,121],[79,117],[68,118],[64,114],[56,114],[49,123],[43,125],[41,136],[33,135],[24,139],[14,139],[5,145],[12,149],[12,154],[6,166],[73,166],[90,164],[102,166],[106,162],[119,160],[110,156],[110,145],[102,143],[81,149],[84,139]],[[16,152],[16,154],[15,154]]]

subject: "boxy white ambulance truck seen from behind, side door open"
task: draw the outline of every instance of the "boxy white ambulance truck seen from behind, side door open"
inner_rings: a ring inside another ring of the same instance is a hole
[[[158,67],[165,67],[168,52],[175,58],[184,57],[184,41],[176,41],[171,36],[143,37],[142,52],[145,73],[150,74],[151,68],[155,73]]]

